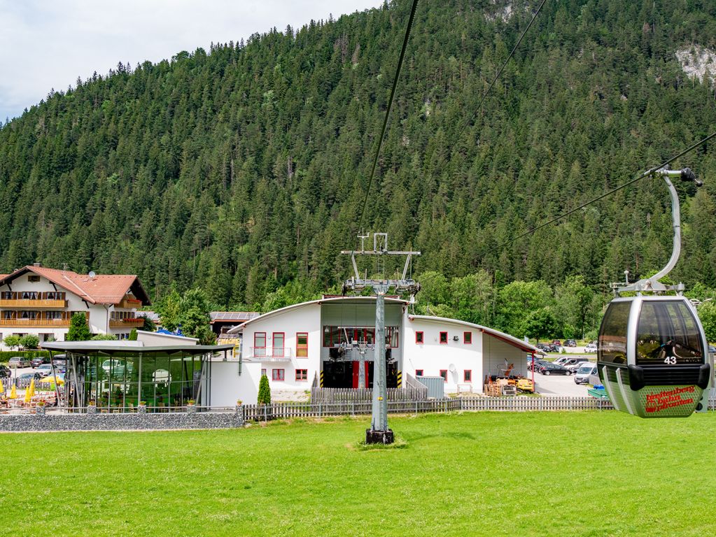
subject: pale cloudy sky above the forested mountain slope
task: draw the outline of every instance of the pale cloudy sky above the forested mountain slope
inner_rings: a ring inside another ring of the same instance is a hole
[[[383,4],[383,0],[0,0],[0,121],[77,77],[170,59],[212,42]]]

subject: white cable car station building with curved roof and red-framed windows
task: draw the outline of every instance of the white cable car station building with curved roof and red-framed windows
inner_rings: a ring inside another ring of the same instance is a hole
[[[326,296],[259,315],[228,332],[241,338],[246,373],[266,374],[272,391],[372,388],[375,302]],[[409,310],[409,302],[385,298],[388,388],[402,387],[405,375],[440,376],[446,393],[482,393],[488,375],[527,375],[533,345],[471,322]]]

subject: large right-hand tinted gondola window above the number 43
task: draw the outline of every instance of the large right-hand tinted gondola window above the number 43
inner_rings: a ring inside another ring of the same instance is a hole
[[[684,302],[644,302],[637,333],[637,365],[703,363],[699,329]]]

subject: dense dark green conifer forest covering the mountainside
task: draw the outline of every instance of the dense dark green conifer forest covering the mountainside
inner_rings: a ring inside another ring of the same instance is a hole
[[[624,270],[646,275],[669,257],[669,197],[654,179],[502,245],[715,128],[710,79],[687,76],[675,51],[716,46],[716,4],[548,0],[476,109],[537,5],[418,8],[365,228],[422,251],[412,273],[437,282],[423,302],[440,303],[450,282],[499,297],[516,280],[557,298],[579,281],[605,300]],[[0,128],[0,272],[39,261],[136,273],[155,298],[200,286],[217,307],[335,289],[349,276],[339,250],[358,244],[409,9],[396,0],[119,64],[52,92]],[[712,147],[674,163],[706,183],[677,185],[672,279],[691,287],[716,287]],[[443,300],[453,312],[510,326],[458,295]]]

